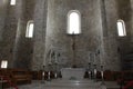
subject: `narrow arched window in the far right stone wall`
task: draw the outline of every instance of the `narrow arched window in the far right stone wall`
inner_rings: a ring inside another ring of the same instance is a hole
[[[120,37],[126,36],[125,23],[123,20],[117,20],[117,32]]]

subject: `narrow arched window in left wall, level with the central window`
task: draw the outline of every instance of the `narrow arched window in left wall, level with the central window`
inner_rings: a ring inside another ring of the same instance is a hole
[[[27,38],[32,38],[33,37],[33,21],[28,21],[28,24],[27,24],[27,32],[25,32],[25,37]]]

